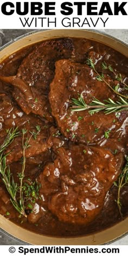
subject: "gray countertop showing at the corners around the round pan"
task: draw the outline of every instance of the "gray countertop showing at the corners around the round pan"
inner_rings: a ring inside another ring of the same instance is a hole
[[[30,29],[3,29],[0,30],[0,46],[3,46],[5,43],[14,40],[16,37],[21,36],[25,33],[28,33]],[[100,30],[104,33],[117,37],[118,39],[128,43],[128,30],[126,29],[106,29]],[[17,241],[14,238],[10,238],[7,234],[4,234],[0,231],[0,245],[23,245],[23,242]],[[116,242],[113,242],[111,245],[128,245],[128,235],[124,238],[119,239]]]

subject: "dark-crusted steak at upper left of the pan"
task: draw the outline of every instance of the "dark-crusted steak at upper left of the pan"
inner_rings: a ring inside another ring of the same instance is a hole
[[[53,121],[47,93],[54,78],[55,61],[71,57],[72,50],[72,39],[42,42],[24,58],[15,76],[1,76],[2,81],[14,85],[13,96],[25,113]]]

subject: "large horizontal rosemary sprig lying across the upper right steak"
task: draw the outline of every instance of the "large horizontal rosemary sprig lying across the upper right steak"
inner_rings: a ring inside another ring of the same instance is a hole
[[[100,111],[104,111],[105,114],[110,114],[112,112],[121,112],[123,110],[128,111],[128,101],[123,99],[122,97],[119,97],[119,99],[120,101],[114,102],[112,99],[109,98],[108,100],[105,100],[107,104],[104,104],[100,100],[94,98],[92,100],[92,103],[87,105],[82,96],[79,95],[78,100],[74,98],[72,99],[73,106],[71,108],[71,111],[89,110],[89,114],[98,113]]]

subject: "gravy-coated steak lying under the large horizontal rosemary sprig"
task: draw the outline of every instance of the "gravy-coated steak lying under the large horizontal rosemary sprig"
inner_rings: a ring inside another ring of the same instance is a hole
[[[87,65],[70,60],[56,62],[55,77],[50,84],[50,106],[62,134],[74,142],[98,144],[105,138],[105,132],[108,131],[109,137],[112,137],[127,119],[126,111],[122,111],[118,116],[116,113],[106,115],[104,111],[92,115],[88,110],[72,111],[72,98],[78,99],[79,94],[86,104],[90,104],[94,97],[103,103],[108,98],[117,100],[116,93],[95,76],[93,69]],[[111,82],[111,85],[117,82],[112,81],[109,76],[105,76],[105,79]]]

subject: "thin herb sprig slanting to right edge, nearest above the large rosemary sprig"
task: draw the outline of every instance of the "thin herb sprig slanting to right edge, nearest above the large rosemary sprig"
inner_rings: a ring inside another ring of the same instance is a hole
[[[94,70],[94,72],[97,74],[96,79],[97,79],[98,81],[104,81],[105,84],[106,84],[108,87],[110,87],[114,93],[116,93],[117,95],[119,95],[119,96],[121,96],[121,97],[123,97],[123,98],[128,99],[127,96],[125,96],[125,95],[119,93],[118,90],[114,89],[114,88],[105,80],[104,74],[100,74],[100,73],[95,69],[95,65],[94,65],[92,59],[87,59],[87,62],[86,62],[86,63],[87,63],[87,65],[88,65],[89,67],[91,67],[91,68]]]

